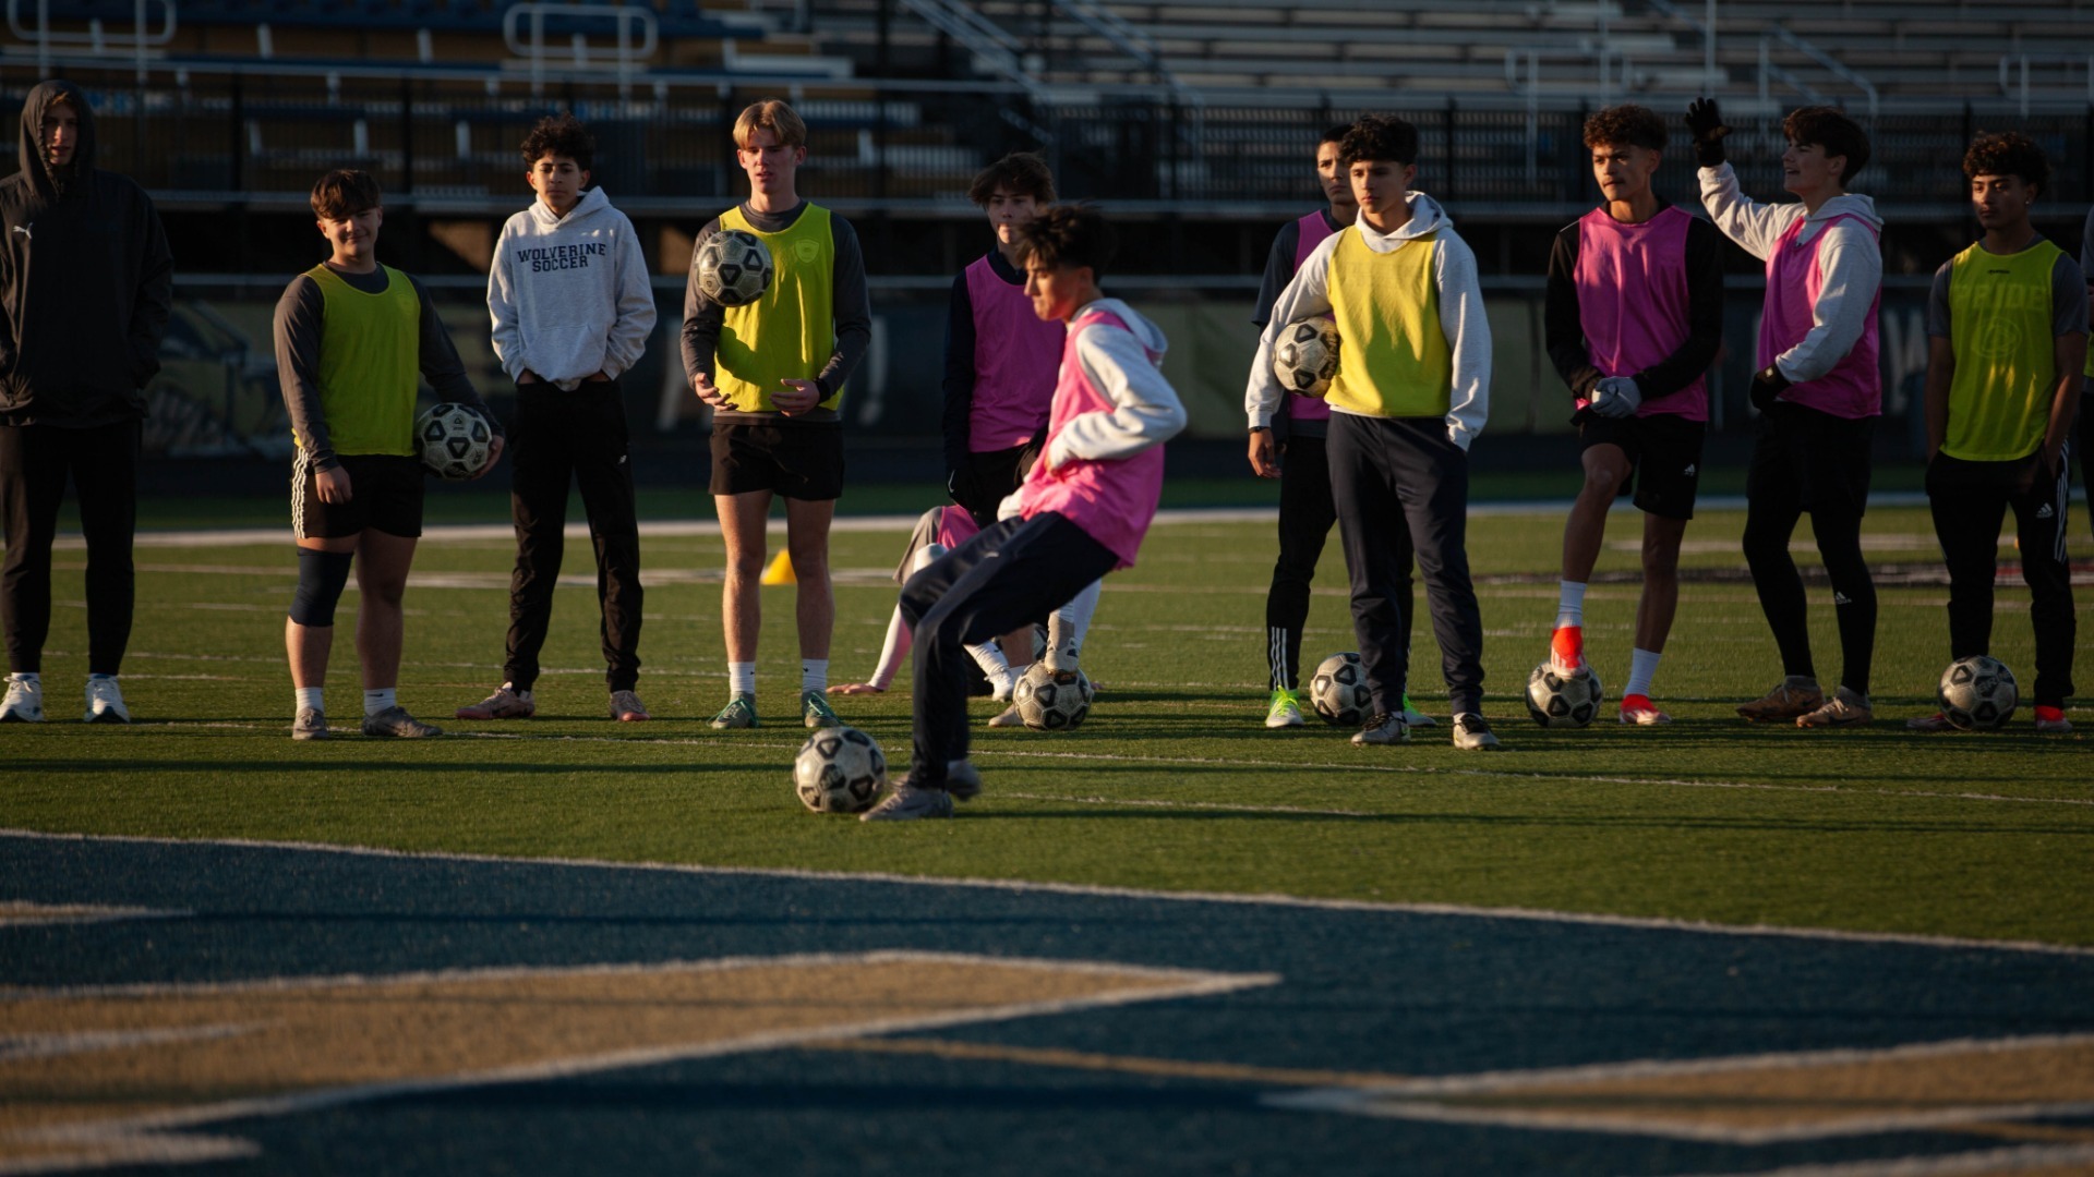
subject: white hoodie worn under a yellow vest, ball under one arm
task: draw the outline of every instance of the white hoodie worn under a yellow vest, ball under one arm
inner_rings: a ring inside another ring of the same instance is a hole
[[[1353,222],[1361,241],[1376,253],[1395,253],[1411,241],[1439,230],[1441,247],[1432,253],[1432,281],[1439,285],[1441,331],[1447,335],[1447,350],[1453,352],[1453,381],[1447,390],[1447,440],[1468,450],[1468,444],[1483,431],[1491,417],[1491,323],[1483,314],[1483,285],[1476,281],[1476,253],[1453,232],[1453,222],[1439,203],[1424,193],[1405,193],[1411,218],[1390,232],[1378,232],[1367,224],[1365,214]],[[1273,316],[1258,337],[1258,356],[1250,362],[1250,383],[1244,387],[1244,410],[1250,425],[1271,425],[1273,413],[1286,398],[1279,377],[1273,375],[1273,341],[1279,331],[1298,318],[1330,312],[1330,256],[1338,249],[1342,232],[1334,232],[1317,243],[1315,253],[1302,260],[1288,289],[1279,291]],[[1346,413],[1336,404],[1332,413]]]

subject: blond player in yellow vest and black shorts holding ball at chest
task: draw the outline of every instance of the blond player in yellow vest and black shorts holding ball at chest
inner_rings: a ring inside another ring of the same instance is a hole
[[[743,109],[735,161],[750,176],[750,199],[697,235],[683,299],[683,371],[712,406],[712,503],[727,538],[720,612],[731,697],[712,727],[758,723],[756,635],[773,498],[785,498],[785,549],[798,578],[800,720],[833,727],[829,519],[844,494],[836,406],[873,337],[865,260],[844,218],[800,199],[794,178],[806,161],[806,124],[792,107],[764,98]],[[748,306],[720,306],[697,285],[701,247],[727,228],[771,249],[771,289]]]

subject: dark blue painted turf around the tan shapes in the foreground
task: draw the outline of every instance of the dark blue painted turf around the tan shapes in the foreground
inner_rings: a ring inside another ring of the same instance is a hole
[[[2094,1030],[2094,957],[1022,888],[0,836],[0,984],[220,982],[919,949],[1284,982],[932,1037],[1472,1074]],[[840,1001],[844,997],[840,995]],[[781,1049],[211,1125],[209,1173],[1734,1173],[1996,1148],[1778,1146],[1294,1112],[1277,1089]]]

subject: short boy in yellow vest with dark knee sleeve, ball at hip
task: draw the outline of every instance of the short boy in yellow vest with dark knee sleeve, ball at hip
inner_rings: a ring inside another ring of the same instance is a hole
[[[364,172],[329,172],[312,214],[333,247],[291,279],[276,302],[276,379],[291,417],[291,534],[297,593],[283,626],[297,710],[291,739],[327,739],[327,656],[335,603],[356,563],[356,660],[364,679],[364,735],[421,737],[442,729],[400,706],[400,593],[421,536],[421,457],[415,444],[417,373],[440,400],[480,408],[421,283],[377,260],[385,220]],[[486,475],[503,457],[494,425]]]

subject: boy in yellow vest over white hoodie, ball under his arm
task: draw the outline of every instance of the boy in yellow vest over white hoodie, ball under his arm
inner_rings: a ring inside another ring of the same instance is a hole
[[[1403,572],[1426,578],[1453,704],[1453,746],[1497,748],[1483,718],[1483,616],[1468,578],[1468,446],[1491,396],[1491,329],[1476,256],[1418,178],[1418,128],[1353,124],[1338,147],[1359,220],[1326,237],[1273,304],[1244,402],[1271,425],[1279,327],[1332,314],[1344,364],[1330,385],[1330,490],[1353,580],[1353,632],[1374,714],[1353,743],[1405,743]],[[1401,519],[1401,521],[1399,521]]]

